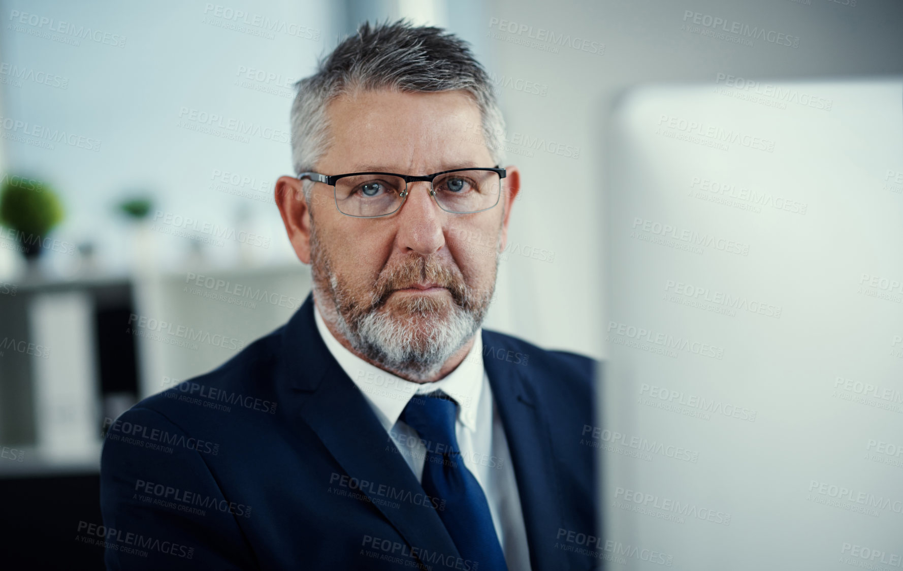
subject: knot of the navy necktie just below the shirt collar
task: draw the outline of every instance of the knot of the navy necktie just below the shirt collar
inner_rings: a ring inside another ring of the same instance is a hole
[[[428,395],[414,395],[402,411],[401,419],[417,431],[427,452],[460,454],[454,430],[456,405],[455,400],[441,390]]]

